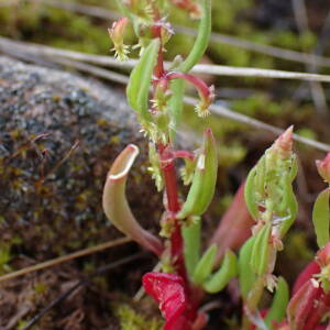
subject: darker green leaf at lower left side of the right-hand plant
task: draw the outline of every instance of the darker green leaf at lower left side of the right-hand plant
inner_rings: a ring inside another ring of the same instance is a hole
[[[240,251],[239,256],[239,283],[240,283],[240,290],[241,295],[244,300],[248,298],[248,294],[251,292],[256,276],[251,267],[251,255],[252,249],[254,245],[255,238],[250,238]]]

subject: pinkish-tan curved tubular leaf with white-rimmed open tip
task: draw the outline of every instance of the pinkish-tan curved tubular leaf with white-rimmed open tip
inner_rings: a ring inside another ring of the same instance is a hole
[[[138,146],[130,144],[116,158],[107,175],[102,206],[107,218],[117,229],[145,249],[161,255],[162,242],[138,223],[125,197],[127,178],[138,154]]]

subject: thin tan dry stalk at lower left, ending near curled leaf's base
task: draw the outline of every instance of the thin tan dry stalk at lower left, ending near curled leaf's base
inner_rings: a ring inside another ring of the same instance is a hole
[[[85,255],[88,255],[88,254],[100,252],[100,251],[103,251],[106,249],[111,249],[111,248],[116,248],[116,246],[119,246],[119,245],[122,245],[122,244],[127,244],[129,242],[132,242],[132,240],[130,238],[120,238],[120,239],[113,240],[111,242],[107,242],[107,243],[99,244],[99,245],[96,245],[96,246],[92,246],[92,248],[84,249],[84,250],[80,250],[80,251],[64,255],[64,256],[59,256],[59,257],[56,257],[56,258],[53,258],[53,260],[33,265],[33,266],[30,266],[30,267],[25,267],[23,270],[20,270],[20,271],[12,272],[12,273],[6,274],[3,276],[0,276],[0,283],[4,282],[4,280],[8,280],[8,279],[19,277],[19,276],[22,276],[22,275],[25,275],[25,274],[29,274],[29,273],[32,273],[32,272],[48,268],[48,267],[52,267],[54,265],[58,265],[61,263],[72,261],[72,260],[77,258],[77,257],[81,257],[81,256],[85,256]]]

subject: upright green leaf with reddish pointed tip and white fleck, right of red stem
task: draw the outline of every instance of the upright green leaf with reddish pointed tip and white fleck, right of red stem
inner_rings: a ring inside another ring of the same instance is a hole
[[[204,146],[197,160],[193,184],[187,200],[177,213],[178,219],[201,216],[209,207],[215,195],[218,173],[217,145],[211,130],[204,134]]]

